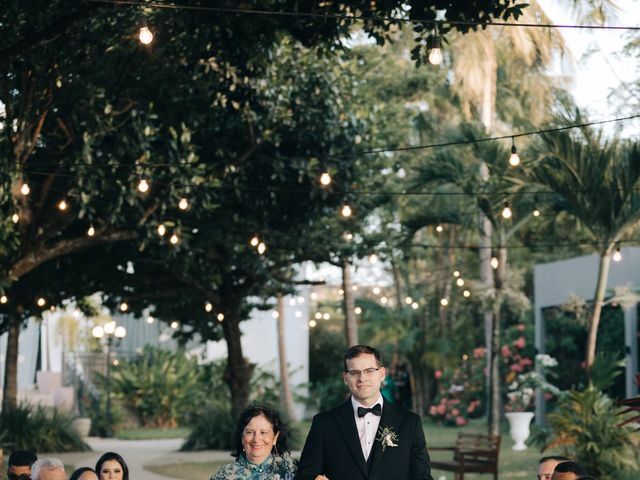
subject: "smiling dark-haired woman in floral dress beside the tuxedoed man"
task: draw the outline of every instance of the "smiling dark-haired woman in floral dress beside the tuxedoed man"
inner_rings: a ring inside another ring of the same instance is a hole
[[[211,480],[293,480],[297,462],[287,448],[286,426],[275,410],[247,407],[236,422],[236,461],[222,467]]]

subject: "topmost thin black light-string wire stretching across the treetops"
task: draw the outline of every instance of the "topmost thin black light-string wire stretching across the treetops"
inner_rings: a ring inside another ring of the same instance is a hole
[[[433,24],[435,21],[449,25],[459,26],[491,26],[491,27],[520,27],[520,28],[556,28],[556,29],[576,29],[576,30],[622,30],[622,31],[638,31],[639,26],[627,25],[574,25],[574,24],[554,24],[554,23],[525,23],[525,22],[470,22],[456,20],[434,20],[433,18],[410,18],[410,17],[391,17],[384,15],[357,15],[357,14],[341,14],[341,13],[315,13],[315,12],[289,12],[289,11],[272,11],[260,10],[253,8],[229,8],[215,7],[209,5],[187,5],[180,3],[161,3],[161,2],[140,2],[135,0],[86,0],[91,3],[107,3],[112,5],[135,6],[142,8],[171,9],[171,10],[192,10],[200,12],[213,12],[221,14],[233,15],[258,15],[258,16],[276,16],[276,17],[298,17],[311,19],[334,19],[346,21],[384,21],[389,23],[408,23],[408,24]]]

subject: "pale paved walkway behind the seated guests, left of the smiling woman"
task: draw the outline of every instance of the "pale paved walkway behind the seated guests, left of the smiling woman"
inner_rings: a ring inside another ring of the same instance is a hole
[[[188,462],[231,461],[229,452],[208,450],[180,452],[182,439],[171,440],[117,440],[114,438],[89,437],[85,439],[93,449],[91,452],[52,453],[67,465],[93,467],[104,452],[117,452],[124,457],[129,467],[130,480],[167,480],[168,477],[149,472],[145,465],[169,465]],[[43,455],[40,455],[43,456]],[[71,472],[67,472],[70,475]]]

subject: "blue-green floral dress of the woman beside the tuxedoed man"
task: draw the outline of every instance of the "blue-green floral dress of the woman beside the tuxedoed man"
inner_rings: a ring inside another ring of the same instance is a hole
[[[290,455],[269,455],[260,465],[251,463],[241,454],[238,459],[225,465],[211,480],[293,480],[298,467]]]

